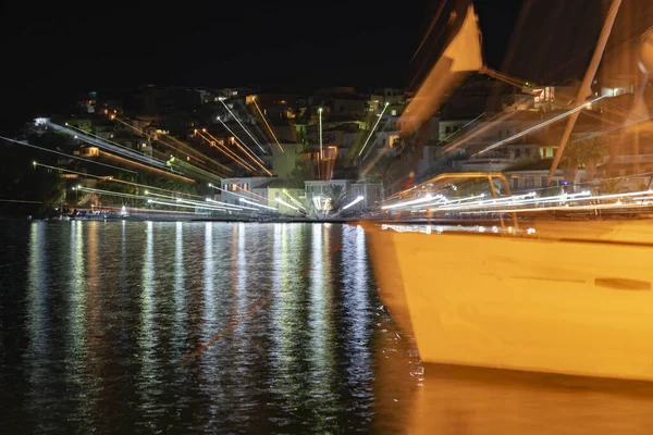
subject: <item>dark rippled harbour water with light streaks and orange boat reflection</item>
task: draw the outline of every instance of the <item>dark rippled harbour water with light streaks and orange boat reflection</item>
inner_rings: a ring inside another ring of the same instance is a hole
[[[653,433],[649,385],[424,372],[358,226],[25,221],[0,243],[2,434]]]

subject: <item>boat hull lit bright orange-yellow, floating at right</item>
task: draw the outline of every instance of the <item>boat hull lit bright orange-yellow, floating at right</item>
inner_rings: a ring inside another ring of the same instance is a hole
[[[653,246],[633,243],[653,226],[586,241],[574,225],[567,240],[366,229],[422,361],[653,381]]]

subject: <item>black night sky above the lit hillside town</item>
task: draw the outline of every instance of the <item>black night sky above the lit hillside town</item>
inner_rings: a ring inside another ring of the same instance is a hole
[[[20,117],[57,110],[79,91],[148,83],[407,86],[409,60],[439,2],[8,1],[3,112]],[[488,62],[498,67],[521,1],[475,3]]]

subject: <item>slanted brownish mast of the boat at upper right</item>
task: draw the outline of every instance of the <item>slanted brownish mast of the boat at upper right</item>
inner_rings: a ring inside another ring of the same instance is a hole
[[[601,59],[603,58],[603,51],[605,49],[605,45],[607,44],[607,38],[612,32],[613,24],[615,23],[615,18],[617,17],[617,12],[619,11],[620,5],[621,0],[612,0],[612,4],[607,11],[607,16],[605,17],[605,23],[601,29],[601,35],[599,35],[599,41],[596,42],[592,61],[590,62],[590,66],[588,66],[588,71],[586,72],[580,88],[578,89],[576,103],[574,104],[575,108],[584,104],[586,99],[592,95],[591,85],[594,80],[594,76],[596,75],[599,63],[601,63]],[[571,132],[574,130],[574,126],[576,125],[576,120],[578,120],[579,114],[580,111],[574,112],[571,115],[569,115],[569,121],[567,121],[567,126],[565,127],[565,132],[560,137],[558,148],[555,152],[555,157],[553,158],[553,163],[551,163],[551,169],[549,170],[549,176],[546,177],[547,186],[551,184],[551,179],[557,170],[560,158],[563,157],[563,152],[565,152],[565,145],[567,144],[567,140],[569,140],[569,135],[571,135]]]

